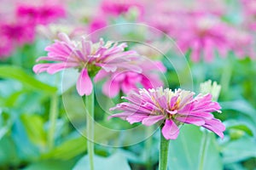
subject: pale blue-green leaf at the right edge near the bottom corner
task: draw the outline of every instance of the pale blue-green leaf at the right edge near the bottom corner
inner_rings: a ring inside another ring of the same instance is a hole
[[[224,144],[222,150],[224,163],[243,161],[249,157],[256,157],[256,142],[253,138],[243,137]]]

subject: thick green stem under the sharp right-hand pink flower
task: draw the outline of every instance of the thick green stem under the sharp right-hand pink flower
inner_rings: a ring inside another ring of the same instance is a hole
[[[159,170],[167,169],[168,162],[168,150],[170,140],[165,139],[163,134],[160,131],[160,157],[159,157]]]

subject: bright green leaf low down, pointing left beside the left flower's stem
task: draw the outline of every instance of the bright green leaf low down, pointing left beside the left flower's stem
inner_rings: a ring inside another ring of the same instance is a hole
[[[49,153],[44,154],[42,157],[45,159],[58,159],[58,160],[69,160],[79,154],[84,153],[87,149],[86,139],[81,136],[77,139],[69,139],[59,146],[50,150]]]

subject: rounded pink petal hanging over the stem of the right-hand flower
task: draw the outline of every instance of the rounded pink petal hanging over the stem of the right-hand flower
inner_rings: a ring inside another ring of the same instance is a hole
[[[162,128],[162,133],[166,139],[177,139],[179,129],[175,124],[175,122],[173,122],[172,120],[166,119],[166,123]]]

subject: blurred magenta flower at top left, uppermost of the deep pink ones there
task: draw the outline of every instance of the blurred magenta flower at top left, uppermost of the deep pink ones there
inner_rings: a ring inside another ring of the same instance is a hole
[[[33,6],[30,4],[20,4],[16,8],[17,17],[33,24],[47,25],[66,15],[66,10],[61,5]]]

